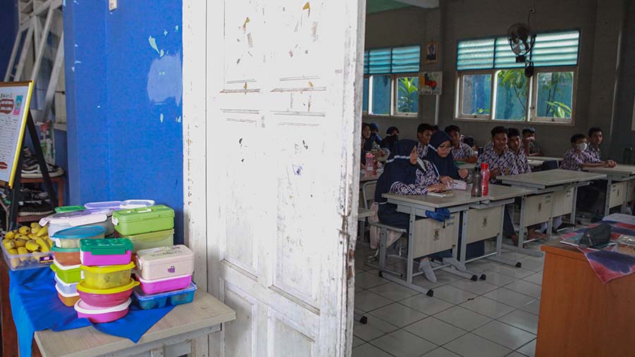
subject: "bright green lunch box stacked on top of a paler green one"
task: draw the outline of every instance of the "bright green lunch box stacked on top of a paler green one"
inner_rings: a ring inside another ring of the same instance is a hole
[[[114,211],[112,224],[121,236],[174,228],[174,210],[164,205]]]

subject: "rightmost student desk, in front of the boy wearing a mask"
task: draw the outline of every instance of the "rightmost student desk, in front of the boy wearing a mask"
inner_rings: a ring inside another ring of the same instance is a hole
[[[584,168],[589,173],[603,173],[606,175],[606,200],[604,201],[604,215],[609,214],[610,208],[622,206],[635,200],[635,165],[615,165],[615,168]]]

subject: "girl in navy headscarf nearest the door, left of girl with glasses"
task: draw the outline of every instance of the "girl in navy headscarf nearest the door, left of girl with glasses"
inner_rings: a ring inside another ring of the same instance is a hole
[[[375,188],[375,202],[379,208],[377,216],[381,223],[392,225],[404,230],[410,229],[410,215],[397,212],[397,205],[388,203],[382,195],[393,194],[428,194],[428,192],[443,191],[445,184],[439,182],[439,177],[433,165],[427,160],[418,158],[417,142],[414,140],[399,140],[394,145],[394,151],[386,161],[384,172],[377,180]],[[419,270],[431,282],[437,278],[430,266],[428,258],[419,262]]]

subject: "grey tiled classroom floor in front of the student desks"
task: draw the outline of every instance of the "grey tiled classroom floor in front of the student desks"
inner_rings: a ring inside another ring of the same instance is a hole
[[[379,277],[364,263],[370,254],[358,246],[355,309],[368,324],[353,325],[354,357],[533,357],[544,258],[503,254],[522,268],[488,259],[468,263],[469,270],[487,275],[485,281],[439,270],[436,283],[416,277],[415,284],[434,289],[429,297]],[[389,264],[403,270],[400,261]]]

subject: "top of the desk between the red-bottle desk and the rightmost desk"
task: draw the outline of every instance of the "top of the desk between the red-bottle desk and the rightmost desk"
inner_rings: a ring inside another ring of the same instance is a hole
[[[516,185],[536,185],[536,186],[557,186],[571,182],[591,181],[605,178],[606,175],[599,173],[584,173],[573,170],[546,170],[536,173],[523,173],[520,175],[501,176],[500,180],[506,184]]]

